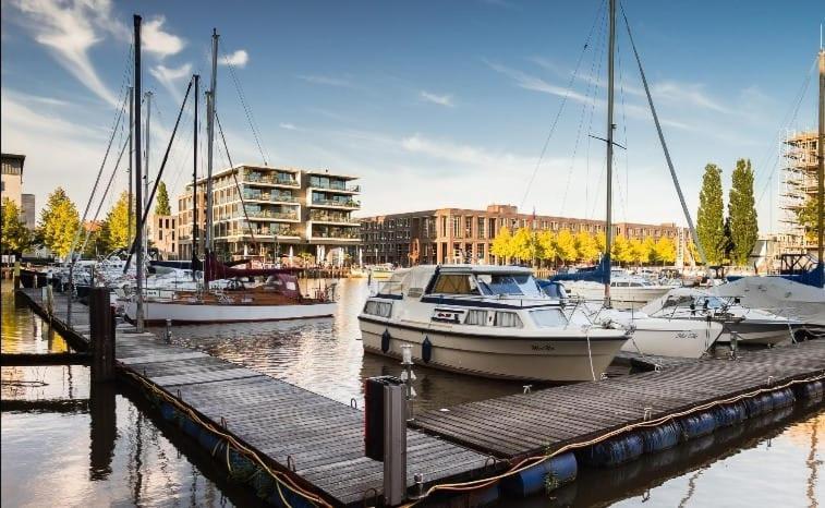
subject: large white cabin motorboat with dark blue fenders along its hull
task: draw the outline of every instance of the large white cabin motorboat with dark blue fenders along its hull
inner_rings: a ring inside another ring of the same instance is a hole
[[[364,350],[484,377],[597,379],[631,335],[566,315],[529,268],[445,265],[396,270],[359,315]]]

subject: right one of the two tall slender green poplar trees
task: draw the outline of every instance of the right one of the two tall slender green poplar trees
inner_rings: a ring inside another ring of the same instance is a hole
[[[759,239],[756,206],[753,198],[753,170],[750,159],[737,160],[730,194],[728,195],[728,217],[730,217],[731,261],[737,265],[748,263],[753,244]]]

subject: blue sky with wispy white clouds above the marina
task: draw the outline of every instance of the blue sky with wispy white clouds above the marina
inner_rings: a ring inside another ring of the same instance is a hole
[[[604,0],[0,1],[2,150],[26,155],[24,192],[38,207],[62,185],[83,211],[112,132],[101,216],[126,189],[117,119],[138,13],[151,179],[192,74],[208,87],[215,27],[227,140],[216,169],[231,159],[355,176],[360,216],[508,203],[604,217]],[[750,158],[760,229],[776,231],[780,140],[816,126],[825,4],[623,7],[694,218],[705,165],[723,168],[727,193],[737,159]],[[621,14],[617,34],[615,220],[686,225]],[[173,203],[192,178],[193,123],[190,98],[162,178]]]

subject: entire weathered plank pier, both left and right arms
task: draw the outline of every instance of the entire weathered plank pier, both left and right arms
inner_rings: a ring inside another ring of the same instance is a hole
[[[19,294],[36,312],[47,313],[40,290],[24,289]],[[86,342],[88,309],[74,303],[69,326],[66,297],[56,293],[53,299],[47,316],[52,325]],[[364,415],[357,409],[171,346],[154,334],[136,334],[126,325],[118,326],[116,344],[120,377],[157,399],[163,418],[178,422],[187,434],[201,436],[198,440],[208,434],[213,455],[222,450],[219,460],[231,463],[238,453],[230,449],[245,450],[253,465],[280,477],[284,489],[316,495],[314,505],[379,503],[383,465],[364,457]],[[825,341],[806,341],[743,352],[737,360],[671,362],[658,371],[420,413],[408,432],[408,486],[414,485],[415,474],[423,474],[424,492],[466,481],[472,482],[468,487],[484,491],[496,485],[495,480],[483,479],[512,474],[524,463],[537,467],[555,453],[583,449],[636,426],[823,378]],[[814,403],[822,404],[818,394]],[[469,497],[462,503],[476,501]]]

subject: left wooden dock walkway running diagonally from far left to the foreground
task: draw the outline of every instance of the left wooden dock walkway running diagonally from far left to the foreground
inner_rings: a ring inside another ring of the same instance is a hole
[[[38,313],[40,290],[21,290]],[[65,327],[66,297],[54,293],[52,323]],[[85,313],[85,316],[84,316]],[[73,304],[75,331],[88,340],[88,307]],[[293,475],[332,506],[374,503],[383,491],[381,462],[364,457],[364,413],[286,382],[119,326],[121,375],[182,402],[219,432],[231,434],[271,468]],[[445,439],[408,432],[408,485],[468,479],[488,457]]]

